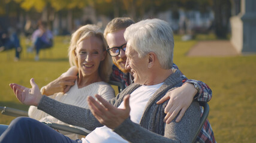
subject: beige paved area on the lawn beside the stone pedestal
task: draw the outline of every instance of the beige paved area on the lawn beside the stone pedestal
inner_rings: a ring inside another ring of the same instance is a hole
[[[189,57],[230,57],[240,55],[230,41],[199,41],[188,52]]]

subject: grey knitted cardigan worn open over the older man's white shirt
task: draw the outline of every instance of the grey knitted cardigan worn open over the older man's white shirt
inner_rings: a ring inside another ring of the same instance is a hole
[[[179,123],[174,120],[170,124],[163,122],[164,108],[168,101],[163,104],[156,104],[167,91],[182,85],[179,70],[165,79],[164,84],[152,95],[147,102],[140,124],[133,123],[126,119],[118,128],[113,130],[129,142],[191,142],[200,122],[200,107],[197,101],[193,101]],[[131,94],[140,85],[132,84],[124,89],[110,103],[118,107],[127,94]],[[65,123],[81,126],[94,130],[101,125],[92,115],[91,111],[74,105],[64,104],[43,96],[38,109],[62,120]]]

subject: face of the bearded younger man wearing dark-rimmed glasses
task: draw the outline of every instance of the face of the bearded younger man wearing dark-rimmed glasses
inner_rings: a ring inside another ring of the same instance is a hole
[[[122,46],[126,43],[124,38],[125,29],[118,30],[114,33],[108,33],[106,36],[107,45],[109,48],[113,48],[116,46]],[[125,69],[125,62],[127,61],[127,57],[125,55],[125,51],[120,49],[120,54],[116,57],[112,57],[113,63],[124,73],[128,73],[129,70]]]

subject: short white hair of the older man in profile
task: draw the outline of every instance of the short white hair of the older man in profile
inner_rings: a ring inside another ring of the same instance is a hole
[[[154,52],[163,69],[173,66],[173,31],[167,22],[156,18],[142,20],[127,27],[124,37],[138,57]]]

